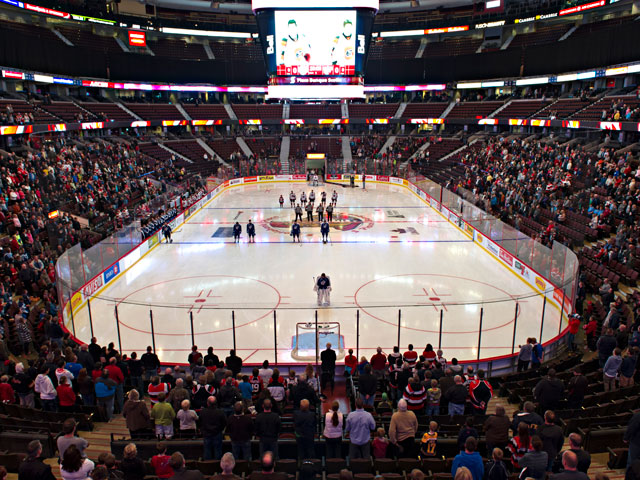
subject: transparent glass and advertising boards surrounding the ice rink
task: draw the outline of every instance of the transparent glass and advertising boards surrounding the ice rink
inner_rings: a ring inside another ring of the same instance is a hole
[[[351,176],[328,175],[327,180],[349,183]],[[254,183],[305,181],[305,175],[263,175],[224,181],[209,179],[209,193],[180,213],[174,219],[174,226],[183,223],[229,188]],[[355,175],[355,181],[356,184],[361,182],[362,176]],[[80,342],[88,342],[96,336],[100,343],[117,342],[118,349],[124,353],[142,353],[150,345],[158,351],[163,363],[174,365],[186,360],[193,344],[201,348],[212,346],[218,354],[234,349],[245,357],[249,365],[260,364],[265,359],[276,365],[318,363],[319,351],[324,349],[326,342],[331,342],[341,356],[353,348],[358,357],[369,357],[376,346],[363,343],[371,333],[370,324],[363,321],[365,315],[384,320],[383,328],[374,333],[379,334],[377,341],[383,343],[385,350],[393,345],[413,343],[421,351],[422,345],[431,343],[434,349],[442,348],[445,356],[451,358],[456,356],[451,352],[463,347],[471,353],[461,357],[464,358],[461,363],[484,368],[494,375],[514,368],[519,344],[525,343],[529,337],[540,340],[546,358],[553,357],[564,345],[566,320],[573,311],[578,272],[577,257],[570,249],[557,242],[552,248],[545,247],[428,178],[367,175],[366,181],[409,190],[439,212],[469,241],[476,243],[529,285],[530,290],[517,296],[507,294],[494,299],[469,298],[455,302],[425,299],[428,301],[424,303],[363,304],[356,299],[353,304],[335,303],[330,309],[309,308],[308,304],[282,305],[280,301],[275,306],[266,305],[253,303],[247,298],[238,304],[199,304],[197,312],[204,314],[194,315],[195,304],[173,302],[170,298],[163,303],[130,301],[112,298],[108,291],[103,292],[109,282],[126,274],[129,267],[159,244],[159,232],[141,243],[133,242],[134,226],[132,230],[118,232],[96,246],[98,248],[87,252],[82,252],[76,245],[59,259],[56,272],[63,306],[62,322]],[[113,260],[111,264],[106,263],[109,260]],[[94,275],[96,271],[99,274]],[[525,302],[527,310],[531,310],[530,305],[535,305],[535,315],[539,313],[534,319],[533,329],[531,321],[524,326],[521,319]],[[103,313],[96,316],[96,311]],[[106,311],[113,313],[104,314]],[[495,355],[496,334],[492,332],[496,328],[490,328],[490,324],[498,315],[500,328],[504,329],[499,334],[500,354]],[[160,341],[169,334],[157,328],[159,318],[163,319],[163,325],[175,325],[176,332],[179,332],[171,334],[169,348],[166,347],[166,337]],[[256,344],[255,336],[247,338],[240,330],[256,323],[256,318],[262,321],[260,345]],[[129,326],[131,319],[138,322],[135,329]],[[301,327],[295,332],[284,331],[280,328],[281,321]],[[335,323],[338,323],[337,330]],[[422,328],[425,325],[428,327]],[[468,326],[468,331],[459,331],[461,325]],[[123,331],[125,327],[127,330]],[[504,335],[505,331],[509,334]]]

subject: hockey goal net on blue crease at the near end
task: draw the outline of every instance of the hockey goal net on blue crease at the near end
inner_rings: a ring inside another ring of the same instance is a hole
[[[300,361],[315,361],[316,346],[319,354],[327,343],[331,344],[338,358],[344,357],[344,338],[340,333],[339,322],[318,322],[317,336],[315,322],[296,323],[291,357]]]

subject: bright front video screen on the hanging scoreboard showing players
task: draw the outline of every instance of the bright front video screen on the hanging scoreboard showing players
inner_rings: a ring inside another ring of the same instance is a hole
[[[355,74],[355,10],[278,10],[274,23],[277,75]]]

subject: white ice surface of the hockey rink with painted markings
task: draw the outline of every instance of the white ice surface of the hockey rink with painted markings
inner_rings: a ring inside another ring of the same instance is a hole
[[[448,359],[475,360],[479,342],[482,358],[510,354],[516,303],[516,350],[527,337],[540,339],[542,296],[405,188],[315,187],[316,205],[323,190],[339,195],[331,241],[322,243],[317,221],[305,221],[302,243],[293,244],[289,193],[299,199],[311,189],[254,184],[213,198],[176,229],[172,244],[150,250],[92,299],[98,342],[117,348],[116,305],[124,353],[152,345],[153,318],[157,353],[176,364],[191,349],[192,321],[200,350],[212,346],[222,358],[235,341],[245,363],[276,355],[278,362],[313,361],[315,330],[297,324],[313,324],[316,311],[320,350],[327,341],[345,351],[359,343],[367,358],[378,346],[390,352],[398,336],[403,351],[409,343],[419,352],[441,343]],[[247,243],[249,219],[255,244]],[[231,233],[236,221],[240,244]],[[330,307],[316,305],[314,277],[322,272],[331,278]],[[86,310],[74,320],[83,341],[91,336]],[[546,341],[558,334],[560,313],[547,304],[544,318]]]

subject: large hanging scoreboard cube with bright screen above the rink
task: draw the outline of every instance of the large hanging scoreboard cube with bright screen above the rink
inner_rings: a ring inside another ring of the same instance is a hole
[[[378,0],[253,0],[273,98],[364,96]]]

